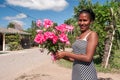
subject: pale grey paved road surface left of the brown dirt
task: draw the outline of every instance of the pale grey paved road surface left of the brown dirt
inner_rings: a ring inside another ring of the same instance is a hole
[[[42,65],[50,59],[48,57],[41,54],[38,48],[0,54],[0,80],[15,80],[16,76]]]

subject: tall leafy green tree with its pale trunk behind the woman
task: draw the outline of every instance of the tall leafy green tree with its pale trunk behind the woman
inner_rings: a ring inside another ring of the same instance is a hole
[[[99,36],[99,45],[96,50],[96,55],[99,55],[100,63],[109,62],[108,58],[114,57],[115,49],[118,49],[120,44],[120,3],[106,1],[103,5],[100,3],[92,3],[91,0],[80,0],[79,5],[74,7],[74,17],[66,20],[67,23],[76,24],[79,11],[84,8],[91,8],[96,13],[96,19],[91,27]],[[113,13],[111,13],[113,9]],[[74,22],[73,22],[74,20]],[[75,22],[76,21],[76,22]],[[76,25],[77,26],[77,25]],[[75,33],[78,32],[75,27]],[[105,55],[108,55],[105,57]],[[108,61],[107,61],[108,60]]]

